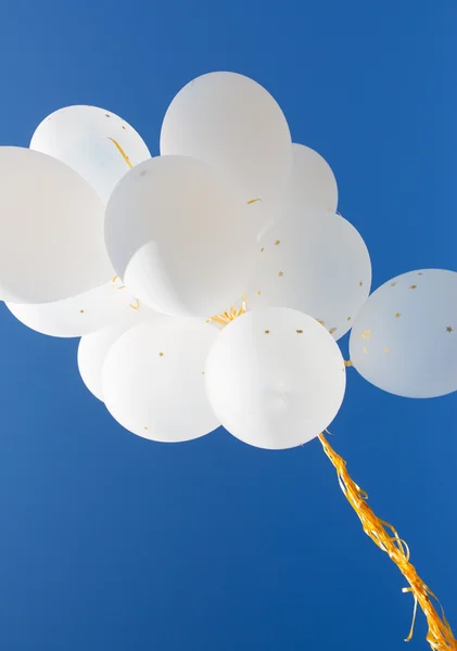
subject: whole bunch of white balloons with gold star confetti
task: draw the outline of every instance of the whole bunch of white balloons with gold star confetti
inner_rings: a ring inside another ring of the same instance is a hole
[[[369,296],[331,168],[292,143],[262,86],[194,79],[160,149],[93,106],[0,148],[0,297],[38,332],[81,337],[81,378],[124,427],[181,442],[221,424],[289,448],[330,425],[348,363],[401,396],[457,390],[457,273],[410,271]]]

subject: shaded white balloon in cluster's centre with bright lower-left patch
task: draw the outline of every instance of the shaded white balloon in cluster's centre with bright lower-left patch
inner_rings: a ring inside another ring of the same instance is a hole
[[[245,290],[254,267],[249,206],[219,174],[186,156],[129,171],[106,208],[116,272],[152,309],[211,317]]]

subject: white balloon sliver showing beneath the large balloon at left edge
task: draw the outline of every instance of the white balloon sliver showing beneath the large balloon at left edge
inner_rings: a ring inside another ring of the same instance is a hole
[[[73,298],[53,303],[7,303],[24,326],[49,336],[82,336],[100,330],[120,315],[135,297],[116,282],[109,282]]]

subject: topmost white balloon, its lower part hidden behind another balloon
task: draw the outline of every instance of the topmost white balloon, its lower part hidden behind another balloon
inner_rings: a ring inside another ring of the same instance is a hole
[[[292,166],[291,136],[274,98],[236,73],[210,73],[185,86],[169,105],[161,154],[193,156],[220,168],[244,201],[276,203]]]

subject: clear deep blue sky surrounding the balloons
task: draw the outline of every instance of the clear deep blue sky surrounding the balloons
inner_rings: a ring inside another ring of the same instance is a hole
[[[457,269],[455,0],[11,0],[0,142],[73,103],[157,153],[191,78],[244,73],[338,177],[375,286]],[[457,334],[457,333],[456,333]],[[317,441],[285,452],[224,431],[176,446],[118,426],[77,341],[0,311],[1,651],[396,651],[412,600],[361,533]],[[412,550],[457,628],[457,395],[395,398],[348,372],[333,445]],[[418,617],[414,649],[426,650]]]

